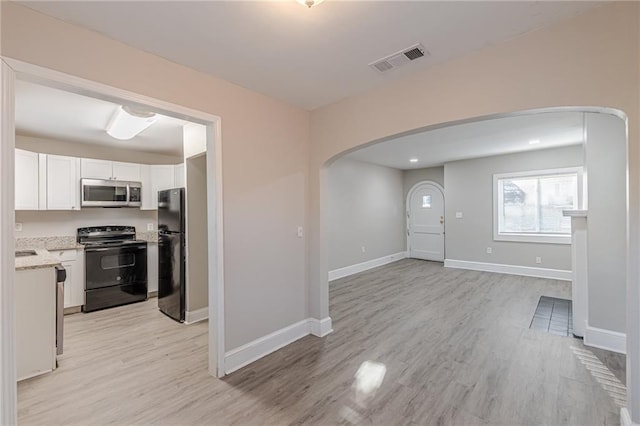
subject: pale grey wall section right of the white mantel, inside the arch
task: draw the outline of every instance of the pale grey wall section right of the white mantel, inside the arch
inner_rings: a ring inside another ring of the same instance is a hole
[[[624,333],[627,282],[626,126],[588,113],[588,325]]]

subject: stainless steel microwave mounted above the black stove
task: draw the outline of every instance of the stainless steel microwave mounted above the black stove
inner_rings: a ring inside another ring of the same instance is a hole
[[[142,184],[122,180],[81,179],[82,207],[140,207]]]

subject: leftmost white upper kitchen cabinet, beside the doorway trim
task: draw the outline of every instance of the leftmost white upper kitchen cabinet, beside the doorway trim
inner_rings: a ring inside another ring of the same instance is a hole
[[[40,154],[16,149],[15,209],[40,208]]]

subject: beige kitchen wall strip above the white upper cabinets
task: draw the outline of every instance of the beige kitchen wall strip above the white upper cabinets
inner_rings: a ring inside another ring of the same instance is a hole
[[[97,158],[100,160],[135,162],[139,164],[179,164],[183,162],[182,157],[134,150],[113,149],[25,135],[16,135],[16,148],[43,154]]]

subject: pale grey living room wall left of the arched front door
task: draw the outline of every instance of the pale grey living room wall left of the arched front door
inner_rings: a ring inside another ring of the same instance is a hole
[[[329,270],[406,250],[402,175],[348,159],[331,165]]]

